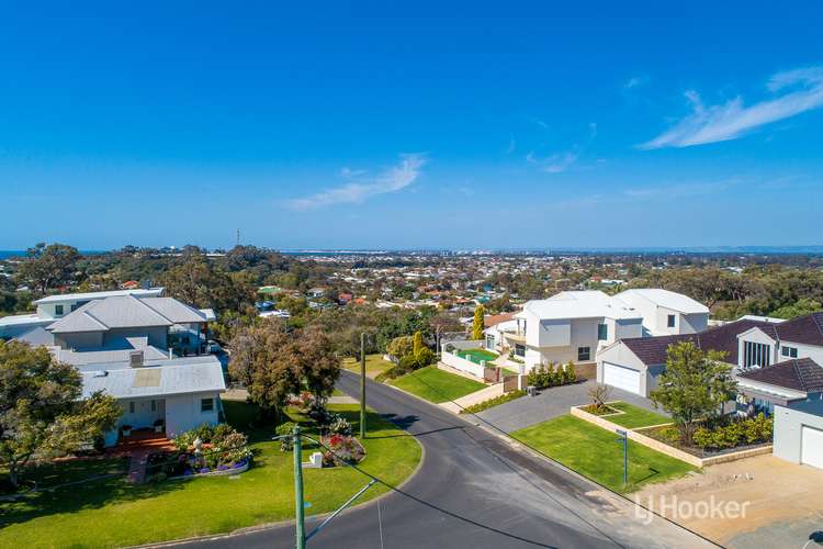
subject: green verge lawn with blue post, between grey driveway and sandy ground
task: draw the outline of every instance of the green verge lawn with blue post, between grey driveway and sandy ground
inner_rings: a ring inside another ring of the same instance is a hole
[[[628,493],[696,470],[688,463],[629,441],[629,485],[623,486],[623,446],[615,433],[564,415],[511,434],[516,439],[616,492]]]

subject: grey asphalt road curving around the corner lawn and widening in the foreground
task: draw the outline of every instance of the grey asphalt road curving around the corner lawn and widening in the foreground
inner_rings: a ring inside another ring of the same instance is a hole
[[[359,377],[343,372],[338,386],[357,395]],[[645,524],[631,505],[439,406],[371,380],[367,391],[369,406],[422,445],[422,466],[401,491],[337,517],[311,548],[712,547],[661,518]],[[307,519],[306,530],[317,523]],[[187,545],[289,548],[294,527]]]

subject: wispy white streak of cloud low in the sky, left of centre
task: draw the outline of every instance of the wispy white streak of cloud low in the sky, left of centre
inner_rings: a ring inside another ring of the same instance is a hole
[[[350,183],[332,187],[325,191],[301,199],[292,199],[286,204],[300,211],[315,210],[342,203],[361,203],[371,197],[397,192],[412,184],[420,175],[426,164],[425,155],[401,155],[401,163],[388,168],[373,179],[359,179],[364,172],[343,168],[340,175],[346,179],[354,179]]]

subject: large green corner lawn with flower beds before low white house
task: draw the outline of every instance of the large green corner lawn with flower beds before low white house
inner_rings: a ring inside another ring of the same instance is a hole
[[[270,439],[273,428],[251,429],[255,410],[225,401],[229,422],[249,434],[257,452],[255,467],[234,479],[167,481],[133,486],[121,477],[87,485],[40,493],[19,503],[0,503],[0,547],[121,547],[293,518],[292,453]],[[358,430],[357,405],[330,405]],[[294,416],[301,419],[298,416]],[[368,416],[368,456],[361,467],[390,484],[403,482],[420,460],[420,446],[405,432]],[[307,448],[304,460],[314,451]],[[78,467],[78,466],[75,466]],[[100,467],[99,464],[95,466]],[[78,475],[82,471],[75,471]],[[337,508],[368,478],[350,468],[305,470],[307,514]],[[359,501],[386,488],[375,484]]]

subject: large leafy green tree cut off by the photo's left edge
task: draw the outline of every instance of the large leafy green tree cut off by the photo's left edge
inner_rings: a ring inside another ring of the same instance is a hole
[[[81,394],[80,373],[45,347],[0,340],[0,462],[12,485],[33,457],[64,456],[114,428],[116,401]]]

